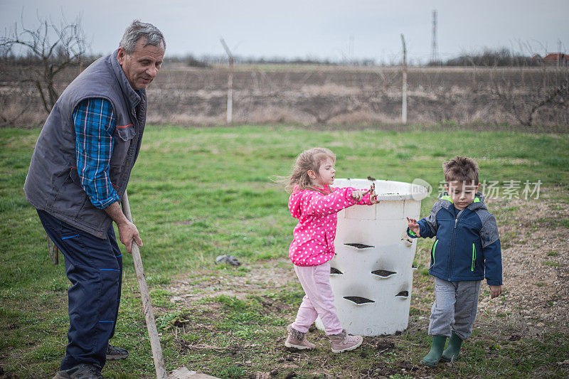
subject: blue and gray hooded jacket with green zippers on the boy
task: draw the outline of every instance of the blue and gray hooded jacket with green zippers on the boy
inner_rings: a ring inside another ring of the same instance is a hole
[[[450,196],[443,193],[431,214],[418,221],[421,237],[435,237],[429,273],[450,282],[486,281],[502,284],[500,238],[496,219],[477,193],[474,202],[454,216]],[[407,229],[410,237],[417,237]]]

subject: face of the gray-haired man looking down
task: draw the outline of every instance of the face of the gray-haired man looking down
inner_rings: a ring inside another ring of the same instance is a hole
[[[119,48],[117,59],[134,90],[145,90],[150,84],[162,65],[164,49],[160,46],[147,45],[145,38],[137,41],[134,53],[127,54],[124,48]],[[144,47],[143,47],[144,46]]]

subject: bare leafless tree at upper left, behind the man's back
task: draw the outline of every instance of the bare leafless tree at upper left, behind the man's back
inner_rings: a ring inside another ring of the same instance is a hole
[[[55,77],[71,65],[80,65],[85,55],[86,44],[80,18],[68,23],[62,15],[59,25],[41,19],[36,28],[26,28],[21,21],[0,37],[0,48],[6,53],[25,52],[31,58],[30,70],[24,71],[24,81],[32,82],[41,97],[44,110],[50,112],[58,100],[59,94],[55,87]]]

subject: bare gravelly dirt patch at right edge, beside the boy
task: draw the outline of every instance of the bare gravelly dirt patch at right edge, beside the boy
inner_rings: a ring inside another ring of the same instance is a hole
[[[569,330],[569,244],[567,204],[550,200],[555,190],[538,201],[511,199],[490,207],[518,208],[509,223],[499,225],[504,264],[504,301],[496,304],[482,297],[486,315],[507,312],[525,336],[541,335],[545,329]]]

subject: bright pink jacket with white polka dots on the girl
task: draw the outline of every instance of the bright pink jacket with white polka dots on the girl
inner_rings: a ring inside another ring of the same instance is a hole
[[[361,201],[351,198],[356,188],[320,188],[326,192],[312,190],[294,191],[289,197],[289,211],[298,224],[292,235],[294,240],[289,247],[289,258],[297,266],[317,266],[334,257],[334,237],[339,210],[352,205],[371,205],[369,193]]]

